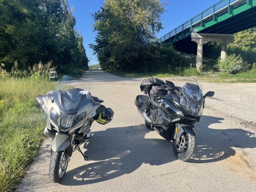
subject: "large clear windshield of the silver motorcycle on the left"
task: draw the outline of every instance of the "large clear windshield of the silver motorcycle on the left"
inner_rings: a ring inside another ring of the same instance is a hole
[[[91,102],[91,83],[86,79],[63,76],[59,79],[55,89],[44,94],[44,97],[53,99],[59,109],[65,113],[75,113],[80,107]]]

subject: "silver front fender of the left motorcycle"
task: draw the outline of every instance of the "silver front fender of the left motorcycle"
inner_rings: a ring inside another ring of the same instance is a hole
[[[70,146],[71,136],[66,134],[56,134],[52,140],[52,150],[55,152],[62,151]]]

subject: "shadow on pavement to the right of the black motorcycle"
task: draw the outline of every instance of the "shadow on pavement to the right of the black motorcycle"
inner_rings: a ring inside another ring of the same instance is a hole
[[[235,123],[234,123],[235,124]],[[195,126],[196,149],[190,163],[209,163],[227,159],[236,149],[255,148],[256,134],[242,126],[225,123],[219,117],[202,116]]]

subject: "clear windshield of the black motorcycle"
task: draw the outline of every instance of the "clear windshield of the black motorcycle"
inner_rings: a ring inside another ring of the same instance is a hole
[[[202,99],[203,87],[194,77],[176,77],[173,78],[173,81],[180,93],[185,93],[191,100],[199,101]]]

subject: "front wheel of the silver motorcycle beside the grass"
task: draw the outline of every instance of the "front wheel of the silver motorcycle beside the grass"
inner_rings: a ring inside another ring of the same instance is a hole
[[[49,166],[49,177],[52,183],[59,183],[62,180],[66,173],[68,163],[66,150],[59,152],[52,151]]]

